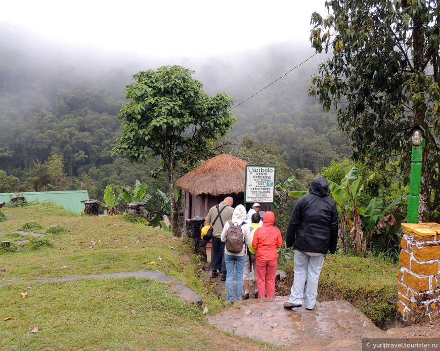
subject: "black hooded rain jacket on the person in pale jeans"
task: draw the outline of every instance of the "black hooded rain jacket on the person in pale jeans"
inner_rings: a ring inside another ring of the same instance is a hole
[[[287,227],[286,245],[305,252],[331,253],[338,241],[338,211],[324,177],[315,178],[310,193],[296,202]]]

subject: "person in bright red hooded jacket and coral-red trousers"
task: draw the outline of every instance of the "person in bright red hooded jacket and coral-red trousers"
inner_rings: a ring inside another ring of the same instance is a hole
[[[263,226],[253,233],[252,247],[256,252],[258,298],[275,297],[275,277],[278,266],[278,248],[283,244],[281,232],[274,227],[275,214],[266,211]],[[266,288],[266,293],[265,293]]]

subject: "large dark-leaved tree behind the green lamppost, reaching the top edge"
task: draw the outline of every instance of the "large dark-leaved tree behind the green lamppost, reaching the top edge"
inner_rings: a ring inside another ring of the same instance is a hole
[[[405,181],[410,129],[426,130],[419,221],[440,219],[440,8],[428,0],[334,0],[312,15],[311,41],[333,55],[319,65],[310,95],[336,108],[353,158],[384,169],[399,160]]]

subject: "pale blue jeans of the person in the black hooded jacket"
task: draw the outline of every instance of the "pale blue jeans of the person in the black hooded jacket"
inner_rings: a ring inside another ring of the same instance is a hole
[[[313,309],[318,296],[318,280],[324,264],[325,255],[309,256],[305,252],[295,250],[295,273],[290,289],[289,302],[304,304],[306,309]],[[307,280],[307,284],[305,283]]]

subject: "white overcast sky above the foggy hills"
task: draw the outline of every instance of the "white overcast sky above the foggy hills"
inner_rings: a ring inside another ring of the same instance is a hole
[[[35,36],[152,57],[200,57],[271,42],[307,43],[325,0],[10,0],[0,21]]]

